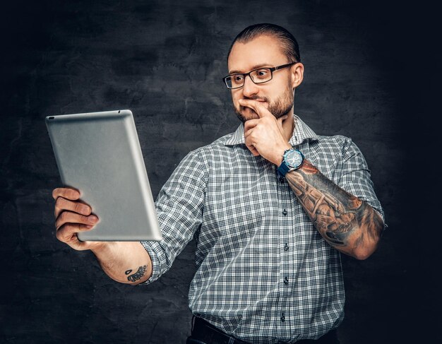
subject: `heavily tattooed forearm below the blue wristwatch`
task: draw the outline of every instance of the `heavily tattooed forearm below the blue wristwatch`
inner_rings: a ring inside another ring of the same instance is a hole
[[[368,203],[340,189],[307,160],[286,178],[330,245],[357,259],[366,259],[376,250],[383,220]]]

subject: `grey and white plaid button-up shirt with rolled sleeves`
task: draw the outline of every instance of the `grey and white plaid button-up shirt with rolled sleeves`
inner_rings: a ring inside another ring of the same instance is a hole
[[[289,143],[345,191],[381,213],[364,156],[345,136],[318,136],[301,119]],[[244,125],[191,151],[156,201],[161,242],[142,242],[151,283],[196,238],[193,314],[251,343],[318,338],[344,316],[340,252],[313,227],[275,165],[254,157]]]

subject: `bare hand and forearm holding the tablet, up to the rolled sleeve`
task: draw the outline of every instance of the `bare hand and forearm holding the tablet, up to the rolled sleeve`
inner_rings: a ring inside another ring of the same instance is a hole
[[[120,283],[136,285],[152,274],[152,261],[140,242],[80,242],[77,233],[92,230],[97,217],[74,189],[54,189],[56,237],[76,250],[90,249],[102,269]]]

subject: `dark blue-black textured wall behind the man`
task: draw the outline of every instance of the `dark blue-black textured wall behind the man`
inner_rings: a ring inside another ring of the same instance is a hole
[[[58,242],[51,193],[61,182],[44,117],[131,109],[156,197],[189,150],[236,129],[221,82],[227,50],[263,22],[299,41],[306,72],[295,113],[317,134],[352,137],[386,212],[375,254],[344,257],[341,343],[441,339],[434,8],[140,0],[1,9],[1,343],[184,343],[193,242],[148,287],[110,280],[92,253]]]

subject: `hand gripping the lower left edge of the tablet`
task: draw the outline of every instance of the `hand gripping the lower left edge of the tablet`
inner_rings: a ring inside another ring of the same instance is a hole
[[[103,242],[80,242],[78,232],[92,230],[98,218],[92,208],[80,201],[80,192],[75,189],[57,188],[52,191],[55,200],[56,238],[76,250],[97,249]]]

